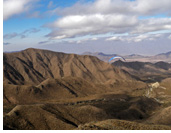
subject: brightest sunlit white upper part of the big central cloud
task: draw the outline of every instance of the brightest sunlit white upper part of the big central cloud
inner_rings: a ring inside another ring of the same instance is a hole
[[[128,20],[126,22],[126,20]],[[111,26],[111,27],[126,27],[136,24],[137,20],[135,17],[127,17],[124,15],[118,14],[93,14],[93,15],[75,15],[75,16],[66,16],[62,19],[59,19],[54,23],[54,26],[59,28],[78,28],[82,26]],[[98,25],[97,25],[98,24]]]

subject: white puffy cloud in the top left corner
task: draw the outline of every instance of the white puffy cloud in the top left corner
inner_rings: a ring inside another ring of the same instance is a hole
[[[32,2],[37,0],[4,0],[3,19],[7,20],[13,15],[21,14],[32,7]]]

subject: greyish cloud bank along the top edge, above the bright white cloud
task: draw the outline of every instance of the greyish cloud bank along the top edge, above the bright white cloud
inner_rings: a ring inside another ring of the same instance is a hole
[[[88,3],[77,2],[72,7],[64,9],[56,8],[51,13],[59,15],[82,15],[92,13],[111,14],[115,12],[149,16],[163,13],[168,15],[171,14],[170,9],[170,0],[96,0],[95,2]]]

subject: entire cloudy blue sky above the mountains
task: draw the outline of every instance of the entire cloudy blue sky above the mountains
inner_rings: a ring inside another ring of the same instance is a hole
[[[4,0],[3,51],[171,51],[171,0]]]

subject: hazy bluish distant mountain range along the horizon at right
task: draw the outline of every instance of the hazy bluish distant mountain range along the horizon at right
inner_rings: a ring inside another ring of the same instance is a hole
[[[122,56],[119,54],[104,54],[102,52],[96,52],[96,53],[90,53],[90,52],[85,52],[83,55],[92,55],[98,57],[100,60],[108,62],[110,58],[113,56]],[[159,61],[164,61],[164,62],[171,62],[171,51],[167,53],[161,53],[157,54],[154,56],[143,56],[143,55],[138,55],[138,54],[131,54],[131,55],[125,55],[122,56],[126,59],[127,62],[132,62],[132,61],[140,61],[140,62],[159,62]]]

